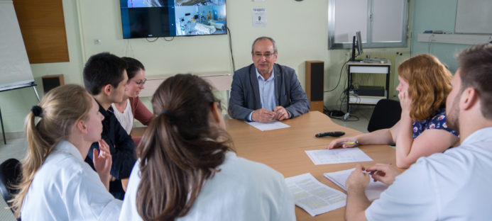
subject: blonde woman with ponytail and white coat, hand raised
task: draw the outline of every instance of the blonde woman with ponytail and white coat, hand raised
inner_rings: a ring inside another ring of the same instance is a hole
[[[107,191],[111,154],[101,140],[103,116],[85,89],[59,86],[33,106],[25,123],[28,150],[12,203],[22,220],[116,220],[121,200]],[[84,158],[92,142],[92,170]]]

